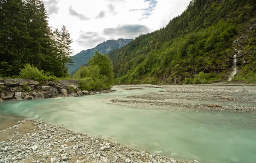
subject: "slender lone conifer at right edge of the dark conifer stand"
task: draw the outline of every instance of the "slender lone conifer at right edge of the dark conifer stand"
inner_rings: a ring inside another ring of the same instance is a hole
[[[60,31],[60,40],[61,40],[61,60],[63,66],[73,65],[73,61],[71,60],[71,54],[73,54],[73,49],[71,49],[70,44],[73,42],[70,39],[70,33],[67,31],[65,26],[61,27]]]

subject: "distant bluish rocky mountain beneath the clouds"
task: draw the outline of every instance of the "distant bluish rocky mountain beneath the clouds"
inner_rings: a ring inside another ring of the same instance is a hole
[[[72,57],[74,66],[68,66],[68,72],[71,73],[79,69],[80,66],[87,64],[88,60],[93,57],[95,51],[98,51],[100,54],[108,54],[113,49],[119,49],[130,43],[133,39],[123,39],[119,38],[118,40],[107,40],[103,43],[100,43],[93,49],[83,50],[80,53]]]

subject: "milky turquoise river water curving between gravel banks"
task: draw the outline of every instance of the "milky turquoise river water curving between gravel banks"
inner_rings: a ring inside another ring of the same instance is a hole
[[[110,102],[157,91],[161,89],[119,89],[76,98],[4,101],[0,113],[36,118],[178,160],[255,163],[255,113],[167,111]]]

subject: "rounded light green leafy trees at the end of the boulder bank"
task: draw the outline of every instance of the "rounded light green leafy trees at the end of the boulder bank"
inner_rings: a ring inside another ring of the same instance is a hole
[[[82,90],[109,89],[113,85],[113,68],[111,60],[96,51],[89,62],[90,66],[81,66],[74,77],[79,80]]]

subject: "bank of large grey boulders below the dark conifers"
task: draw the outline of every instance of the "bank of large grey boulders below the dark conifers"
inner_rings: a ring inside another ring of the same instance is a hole
[[[104,91],[88,92],[80,90],[78,80],[58,80],[39,83],[35,80],[24,79],[0,79],[0,101],[3,100],[33,100],[53,97],[84,96],[112,92]]]

